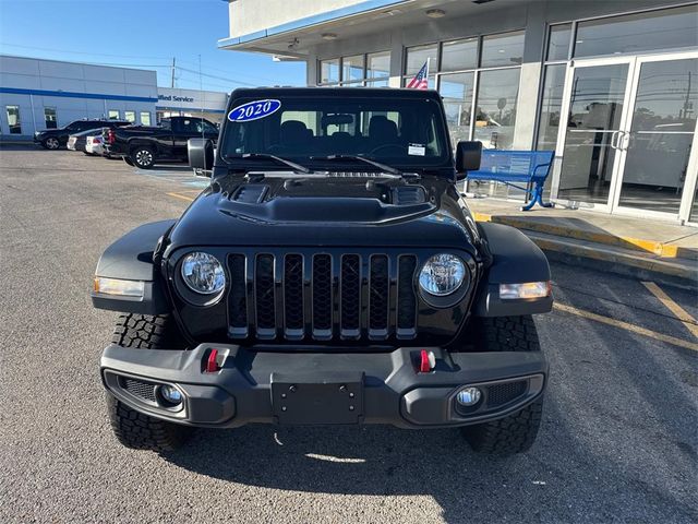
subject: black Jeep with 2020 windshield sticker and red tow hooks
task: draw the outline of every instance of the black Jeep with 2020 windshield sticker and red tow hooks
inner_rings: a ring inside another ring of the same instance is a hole
[[[210,184],[97,264],[120,311],[101,355],[119,441],[171,450],[194,427],[461,428],[486,453],[529,449],[547,364],[532,314],[550,269],[524,234],[477,224],[457,190],[436,92],[234,91]]]

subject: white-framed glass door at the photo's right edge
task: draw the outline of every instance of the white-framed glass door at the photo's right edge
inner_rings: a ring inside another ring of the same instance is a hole
[[[614,209],[684,219],[696,183],[698,52],[637,58],[621,136]]]

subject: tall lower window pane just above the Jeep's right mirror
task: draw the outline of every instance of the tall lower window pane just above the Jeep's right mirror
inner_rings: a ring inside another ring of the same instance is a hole
[[[470,140],[470,114],[472,112],[472,85],[474,73],[442,74],[438,92],[444,97],[446,122],[454,145]]]

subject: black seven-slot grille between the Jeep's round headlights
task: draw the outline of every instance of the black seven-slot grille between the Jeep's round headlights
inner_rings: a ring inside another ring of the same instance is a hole
[[[417,336],[414,254],[231,253],[227,264],[231,338]]]

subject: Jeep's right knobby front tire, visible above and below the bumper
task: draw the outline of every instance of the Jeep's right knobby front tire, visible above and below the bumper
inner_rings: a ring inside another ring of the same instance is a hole
[[[481,347],[488,352],[540,352],[531,315],[478,319]],[[470,448],[478,453],[513,455],[528,451],[538,436],[543,397],[504,418],[462,428]]]

